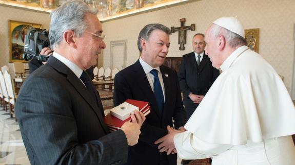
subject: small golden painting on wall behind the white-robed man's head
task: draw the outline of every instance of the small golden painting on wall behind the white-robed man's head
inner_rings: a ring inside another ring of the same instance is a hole
[[[256,53],[259,53],[259,29],[245,29],[247,46]]]

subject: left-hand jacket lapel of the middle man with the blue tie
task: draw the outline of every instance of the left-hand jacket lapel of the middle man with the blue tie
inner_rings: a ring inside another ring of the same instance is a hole
[[[147,100],[149,101],[150,106],[154,108],[151,110],[154,111],[156,113],[156,115],[158,115],[159,118],[161,119],[162,115],[160,114],[160,111],[158,109],[158,105],[156,104],[156,100],[153,95],[153,91],[151,89],[151,86],[148,82],[147,76],[144,72],[144,69],[143,69],[140,61],[137,60],[133,66],[134,66],[133,67],[134,79],[137,81],[138,84],[140,84],[139,86],[143,91],[143,95],[145,95],[147,97]]]

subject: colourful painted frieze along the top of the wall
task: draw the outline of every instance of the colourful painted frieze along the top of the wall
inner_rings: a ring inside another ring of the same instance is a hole
[[[42,12],[51,12],[65,2],[71,0],[0,0],[0,4],[27,8]],[[201,0],[83,0],[88,6],[99,10],[101,21],[114,19],[151,9],[159,9],[169,5],[195,2]]]

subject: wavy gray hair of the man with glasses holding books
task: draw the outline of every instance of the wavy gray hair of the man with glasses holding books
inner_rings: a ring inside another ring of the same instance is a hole
[[[49,27],[50,45],[56,48],[63,39],[63,34],[67,30],[74,31],[80,37],[87,28],[85,15],[87,13],[97,14],[97,9],[89,8],[82,1],[71,1],[50,13],[51,22]]]

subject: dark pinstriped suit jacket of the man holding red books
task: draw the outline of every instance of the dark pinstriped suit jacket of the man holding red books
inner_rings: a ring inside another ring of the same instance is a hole
[[[24,82],[15,105],[31,164],[119,164],[123,131],[108,134],[103,107],[61,61],[50,57]]]

